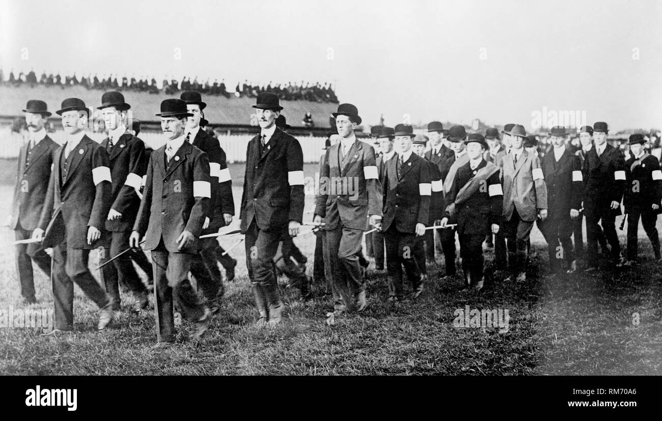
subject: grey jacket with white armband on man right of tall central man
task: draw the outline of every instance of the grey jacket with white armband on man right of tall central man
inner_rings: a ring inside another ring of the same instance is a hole
[[[324,218],[324,229],[335,229],[342,221],[344,227],[367,231],[368,216],[380,215],[383,208],[383,193],[377,162],[375,162],[375,149],[372,145],[356,139],[354,145],[348,150],[348,161],[341,168],[340,147],[336,143],[326,150],[322,164],[321,180],[334,180],[357,186],[354,194],[344,194],[348,191],[322,188],[316,197],[315,214]],[[390,162],[390,161],[389,161]],[[356,180],[356,184],[354,184]]]

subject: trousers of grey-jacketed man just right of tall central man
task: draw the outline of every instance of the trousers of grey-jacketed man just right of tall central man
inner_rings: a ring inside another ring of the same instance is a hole
[[[336,310],[348,310],[348,304],[354,302],[356,294],[365,290],[365,269],[359,263],[363,257],[362,239],[363,230],[343,227],[340,220],[334,229],[326,231],[327,263],[331,269]]]

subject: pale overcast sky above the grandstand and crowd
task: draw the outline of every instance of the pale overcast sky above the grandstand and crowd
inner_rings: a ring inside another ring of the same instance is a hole
[[[363,121],[662,129],[662,1],[0,0],[5,78],[332,82]],[[28,60],[21,54],[27,48]],[[181,50],[177,50],[181,48]],[[175,54],[181,51],[181,60]],[[337,81],[337,82],[336,82]],[[0,101],[2,99],[0,98]]]

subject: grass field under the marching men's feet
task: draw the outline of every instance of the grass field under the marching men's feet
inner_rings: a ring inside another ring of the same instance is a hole
[[[15,161],[1,164],[14,168]],[[234,185],[241,186],[243,166],[233,165],[230,170]],[[307,165],[305,175],[315,171],[316,165]],[[0,203],[4,220],[11,206],[13,176],[9,170],[0,174],[0,194],[6,198]],[[240,187],[234,194],[238,202]],[[312,196],[307,196],[307,210],[312,202]],[[305,215],[306,220],[310,217]],[[283,288],[286,317],[273,330],[254,326],[256,310],[238,248],[231,252],[239,261],[236,281],[226,282],[224,307],[197,346],[183,340],[171,349],[152,351],[156,342],[153,310],[131,313],[126,303],[120,319],[97,332],[97,309],[76,287],[73,333],[41,337],[33,329],[0,328],[0,373],[659,375],[662,276],[651,259],[643,229],[639,238],[642,258],[637,269],[550,278],[544,276],[545,243],[534,229],[532,276],[526,284],[496,280],[480,293],[461,293],[460,277],[444,284],[437,281],[436,274],[443,269],[438,261],[428,269],[432,278],[428,289],[416,302],[406,300],[397,312],[389,312],[386,306],[385,276],[369,270],[369,308],[361,316],[336,318],[332,326],[326,323],[325,314],[332,305],[323,296],[323,285],[314,285],[318,298],[305,303],[297,290]],[[5,246],[12,240],[11,231],[1,231],[0,310],[24,308],[13,248]],[[295,243],[309,257],[308,273],[312,274],[314,237],[298,238]],[[624,235],[621,243],[625,243]],[[36,289],[40,303],[31,308],[52,308],[50,282],[43,274],[36,275]],[[122,298],[128,302],[128,296]],[[454,327],[453,313],[467,305],[507,309],[508,331]],[[183,322],[183,333],[190,329]]]

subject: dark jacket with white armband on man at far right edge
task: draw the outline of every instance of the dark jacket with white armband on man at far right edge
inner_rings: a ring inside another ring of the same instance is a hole
[[[660,205],[662,201],[662,172],[660,163],[653,155],[646,156],[634,165],[634,156],[625,163],[626,186],[624,204],[628,210],[652,212],[651,205]],[[662,206],[662,205],[661,205]],[[658,208],[655,213],[661,213]]]

